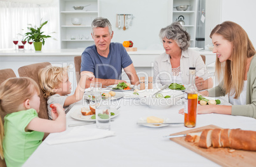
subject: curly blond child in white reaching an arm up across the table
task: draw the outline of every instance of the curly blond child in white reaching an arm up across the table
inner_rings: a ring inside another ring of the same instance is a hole
[[[87,79],[89,81],[94,80],[92,72],[83,74],[75,93],[68,96],[71,93],[71,83],[69,82],[67,67],[52,67],[52,65],[49,65],[39,72],[39,82],[44,96],[47,98],[48,116],[50,119],[52,119],[51,104],[57,103],[62,105],[65,112],[68,113],[75,102],[82,99]]]

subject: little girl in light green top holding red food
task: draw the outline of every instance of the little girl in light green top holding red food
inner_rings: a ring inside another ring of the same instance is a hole
[[[0,86],[0,112],[7,115],[0,124],[7,166],[22,166],[49,133],[66,130],[66,114],[59,104],[53,104],[53,121],[41,119],[38,84],[29,77],[13,77]],[[0,141],[2,142],[2,141]],[[1,154],[3,152],[3,154]]]

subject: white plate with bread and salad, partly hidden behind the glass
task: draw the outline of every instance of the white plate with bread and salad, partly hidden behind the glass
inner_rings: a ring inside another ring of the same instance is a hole
[[[80,121],[96,121],[95,119],[95,108],[90,107],[90,109],[87,109],[83,107],[83,105],[78,105],[76,107],[73,107],[71,110],[70,116],[74,119],[80,120]],[[110,118],[114,118],[120,114],[120,111],[115,108],[110,108]]]

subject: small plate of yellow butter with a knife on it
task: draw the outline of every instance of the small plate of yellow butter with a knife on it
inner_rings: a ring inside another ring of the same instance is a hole
[[[150,128],[161,128],[164,126],[168,126],[169,124],[147,124],[147,123],[169,123],[170,119],[167,117],[155,117],[155,116],[149,116],[149,117],[141,117],[138,120],[138,124],[141,124],[143,126],[147,126]]]

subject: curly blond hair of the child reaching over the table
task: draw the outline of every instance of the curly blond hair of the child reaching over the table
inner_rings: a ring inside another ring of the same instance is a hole
[[[68,67],[48,65],[39,71],[39,83],[45,98],[55,94],[54,89],[63,81],[64,75],[68,75]]]

